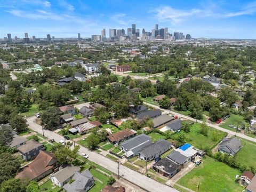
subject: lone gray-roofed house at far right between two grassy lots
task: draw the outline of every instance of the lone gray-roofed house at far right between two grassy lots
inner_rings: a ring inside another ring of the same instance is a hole
[[[224,138],[219,145],[218,150],[221,153],[234,156],[241,149],[241,140],[235,138]]]

